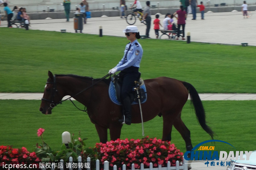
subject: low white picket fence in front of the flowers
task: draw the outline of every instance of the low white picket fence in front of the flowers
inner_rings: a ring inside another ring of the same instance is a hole
[[[153,163],[150,163],[149,168],[144,168],[144,164],[141,163],[140,164],[140,170],[188,170],[188,161],[186,159],[184,159],[184,157],[182,157],[182,165],[180,166],[180,162],[177,160],[176,161],[176,166],[171,166],[171,162],[168,161],[167,163],[167,167],[162,167],[161,165],[158,165],[157,168],[153,168]],[[69,161],[68,162],[64,162],[63,159],[60,160],[59,163],[40,163],[39,164],[39,168],[41,168],[41,170],[64,170],[64,169],[68,169],[68,170],[82,170],[82,169],[86,169],[86,170],[91,170],[91,158],[88,157],[87,158],[87,162],[86,163],[82,163],[82,157],[79,156],[78,157],[78,162],[74,163],[73,162],[73,158],[69,157]],[[100,170],[100,160],[97,159],[96,160],[96,170]],[[109,162],[105,161],[104,162],[104,170],[109,170]],[[117,166],[114,165],[113,170],[117,170]],[[126,170],[126,165],[123,165],[122,170]],[[132,164],[132,169],[131,170],[137,170],[135,169],[134,164]]]

